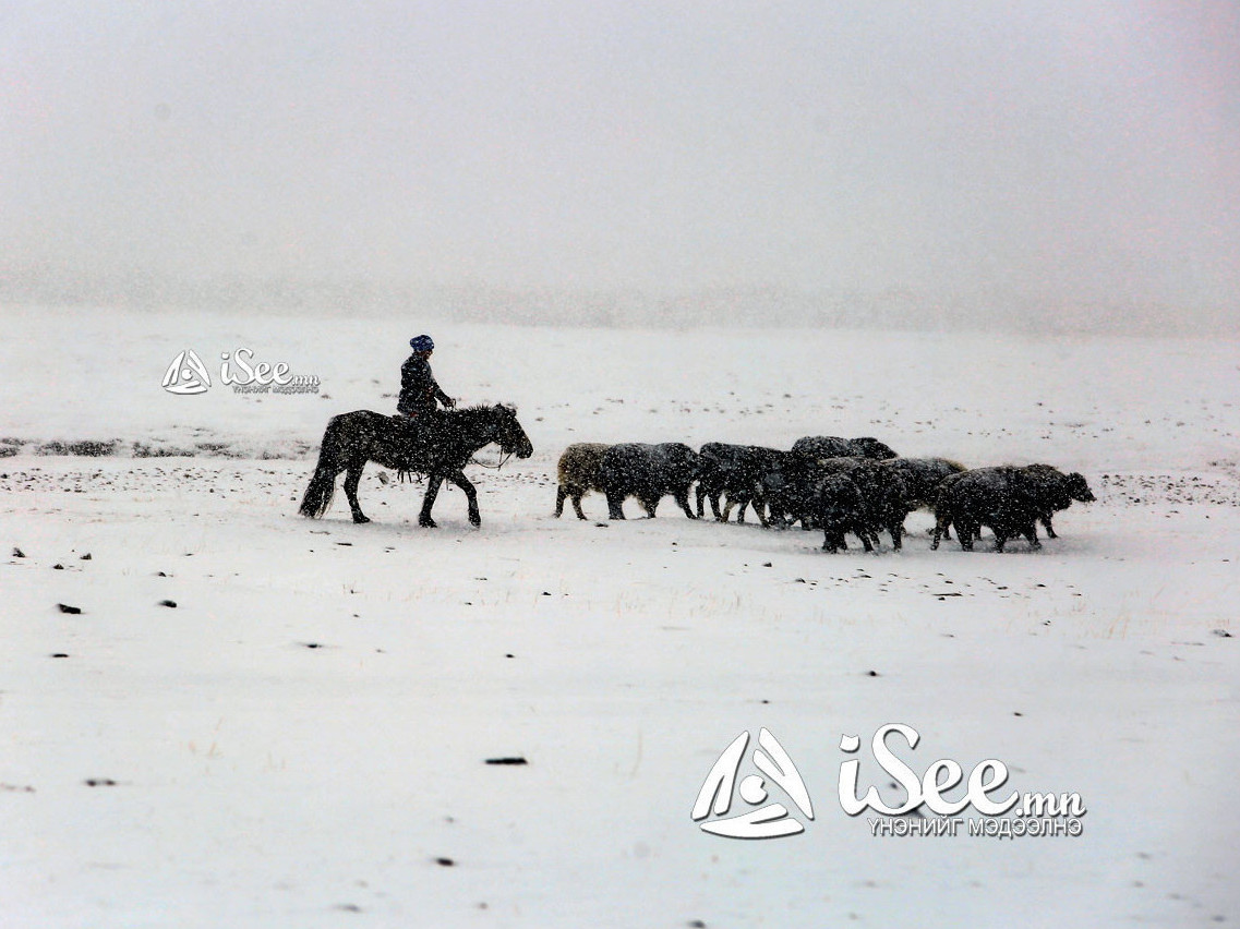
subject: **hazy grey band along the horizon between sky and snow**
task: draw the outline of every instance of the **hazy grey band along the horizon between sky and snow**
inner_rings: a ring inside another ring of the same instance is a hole
[[[0,275],[0,304],[153,311],[384,315],[415,311],[465,322],[580,327],[982,330],[1056,334],[1236,335],[1229,308],[1039,300],[1028,295],[941,296],[908,288],[861,293],[770,285],[520,288],[374,278],[155,274],[43,278]]]

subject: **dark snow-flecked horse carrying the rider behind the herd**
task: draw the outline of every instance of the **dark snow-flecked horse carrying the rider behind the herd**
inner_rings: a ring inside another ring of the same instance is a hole
[[[427,475],[427,496],[418,515],[419,526],[434,526],[430,507],[439,496],[439,486],[450,480],[469,499],[469,521],[481,525],[477,512],[477,491],[461,470],[475,451],[495,443],[505,454],[529,458],[533,445],[517,422],[512,407],[470,407],[469,409],[432,413],[409,422],[403,417],[384,416],[368,409],[341,413],[327,423],[310,486],[301,497],[301,515],[319,517],[327,512],[336,487],[336,475],[345,475],[345,494],[353,522],[370,522],[357,504],[357,484],[367,461],[378,461],[402,474],[417,471]]]

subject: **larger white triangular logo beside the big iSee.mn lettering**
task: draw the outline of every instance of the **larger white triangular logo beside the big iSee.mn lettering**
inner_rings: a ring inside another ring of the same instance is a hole
[[[748,745],[749,733],[743,732],[719,755],[693,804],[693,821],[708,820],[702,822],[702,831],[728,838],[780,838],[804,832],[805,824],[792,816],[784,804],[766,802],[770,795],[763,778],[750,774],[740,779],[738,788],[737,779],[740,778],[740,764]],[[758,745],[754,749],[754,767],[787,794],[807,820],[812,820],[810,794],[787,752],[765,728],[758,733]],[[734,793],[739,793],[746,805],[756,809],[728,816]],[[722,819],[709,820],[712,812]]]

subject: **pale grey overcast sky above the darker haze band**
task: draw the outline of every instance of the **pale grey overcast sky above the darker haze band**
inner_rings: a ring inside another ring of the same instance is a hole
[[[0,272],[1238,319],[1240,5],[0,5]]]

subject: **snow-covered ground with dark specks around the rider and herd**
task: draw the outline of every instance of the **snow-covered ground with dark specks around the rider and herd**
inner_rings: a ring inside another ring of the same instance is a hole
[[[1240,918],[1236,341],[15,308],[0,325],[6,927]],[[419,528],[420,485],[373,465],[373,523],[342,494],[299,517],[327,418],[393,409],[423,330],[449,393],[517,404],[533,458],[471,469],[479,530],[455,489]],[[239,347],[320,393],[234,393],[217,373]],[[206,393],[161,388],[182,350]],[[1048,461],[1099,500],[1004,554],[929,551],[925,513],[903,552],[868,556],[670,500],[653,521],[630,501],[609,523],[598,495],[591,520],[551,515],[570,442],[805,434]],[[79,442],[113,454],[52,454]],[[901,801],[869,753],[887,723],[920,733],[889,740],[919,775],[999,759],[1009,789],[1080,794],[1083,835],[872,835],[837,785],[861,758],[861,793]],[[768,780],[802,833],[703,832],[707,774],[764,727],[813,820]]]

